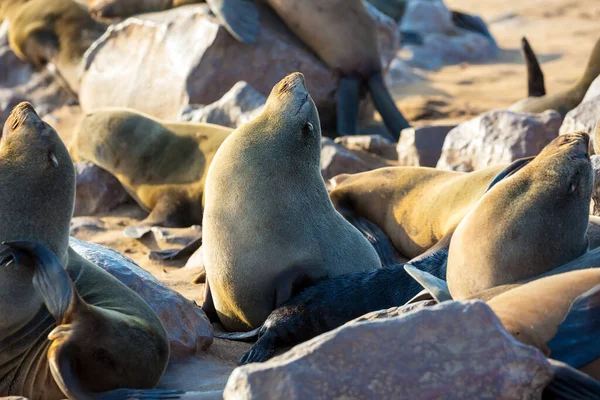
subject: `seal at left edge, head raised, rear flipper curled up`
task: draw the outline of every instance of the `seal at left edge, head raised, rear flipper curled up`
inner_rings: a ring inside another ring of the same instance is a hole
[[[0,242],[9,242],[0,256],[0,396],[154,387],[169,359],[165,329],[141,297],[69,247],[75,170],[29,103],[4,125],[0,182]]]

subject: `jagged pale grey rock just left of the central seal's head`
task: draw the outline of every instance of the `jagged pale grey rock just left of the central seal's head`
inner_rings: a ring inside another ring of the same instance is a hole
[[[237,128],[260,114],[266,102],[266,97],[248,83],[238,82],[212,104],[184,106],[179,119]]]

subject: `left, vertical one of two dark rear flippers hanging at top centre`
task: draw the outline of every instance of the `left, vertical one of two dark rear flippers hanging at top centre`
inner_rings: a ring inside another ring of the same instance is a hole
[[[340,135],[358,135],[361,79],[342,76],[337,95],[337,130]]]

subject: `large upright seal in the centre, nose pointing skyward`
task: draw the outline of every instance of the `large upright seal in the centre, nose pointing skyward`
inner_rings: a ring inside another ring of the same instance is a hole
[[[320,151],[319,115],[300,73],[275,85],[263,112],[217,151],[205,185],[202,308],[214,304],[227,330],[260,326],[316,279],[381,267],[333,208]]]

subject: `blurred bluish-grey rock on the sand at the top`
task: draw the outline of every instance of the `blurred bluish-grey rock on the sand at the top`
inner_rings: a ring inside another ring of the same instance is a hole
[[[497,56],[493,39],[456,27],[452,13],[441,0],[411,0],[400,25],[402,31],[416,32],[422,44],[409,43],[401,57],[410,65],[435,70],[444,65],[479,62]]]

